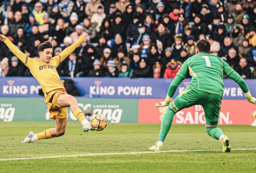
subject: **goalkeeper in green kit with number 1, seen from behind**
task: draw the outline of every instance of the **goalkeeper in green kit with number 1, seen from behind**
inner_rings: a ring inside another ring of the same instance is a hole
[[[207,40],[197,41],[196,55],[189,57],[182,64],[169,87],[165,101],[156,103],[156,107],[168,106],[168,109],[162,119],[158,141],[156,145],[149,147],[149,150],[161,150],[176,112],[193,105],[202,105],[205,114],[206,132],[212,138],[221,141],[224,153],[230,152],[231,147],[228,137],[217,127],[223,96],[223,74],[238,83],[247,101],[256,104],[256,99],[252,97],[247,84],[236,71],[221,58],[209,54],[210,47],[211,45]],[[192,77],[189,86],[181,91],[171,103],[176,88],[185,79],[187,73]]]

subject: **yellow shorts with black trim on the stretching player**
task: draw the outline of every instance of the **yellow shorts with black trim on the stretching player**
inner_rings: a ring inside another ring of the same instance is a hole
[[[68,118],[68,111],[67,107],[61,107],[57,103],[57,99],[59,98],[60,95],[62,94],[67,94],[65,91],[61,90],[53,90],[50,91],[47,96],[44,99],[44,102],[48,106],[48,110],[50,112],[50,118],[51,119],[63,119],[63,118]]]

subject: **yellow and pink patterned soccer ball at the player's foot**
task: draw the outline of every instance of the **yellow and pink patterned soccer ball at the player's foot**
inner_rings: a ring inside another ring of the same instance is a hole
[[[96,114],[91,117],[90,123],[91,123],[91,127],[93,127],[94,130],[101,131],[106,127],[106,125],[108,124],[108,121],[106,117],[104,117],[103,115]]]

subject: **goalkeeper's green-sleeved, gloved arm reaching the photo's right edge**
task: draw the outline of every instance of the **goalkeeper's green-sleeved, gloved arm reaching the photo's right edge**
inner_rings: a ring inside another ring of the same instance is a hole
[[[243,78],[236,71],[234,71],[234,69],[232,69],[225,61],[223,61],[223,73],[230,77],[232,80],[234,80],[240,86],[248,102],[256,104],[256,99],[252,97],[249,88]]]

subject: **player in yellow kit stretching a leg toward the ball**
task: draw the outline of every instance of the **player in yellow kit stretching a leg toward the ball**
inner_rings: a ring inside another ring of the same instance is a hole
[[[53,46],[51,42],[45,41],[38,46],[40,59],[34,59],[22,53],[7,37],[0,34],[0,40],[29,68],[31,74],[41,85],[45,96],[44,102],[48,106],[50,118],[55,120],[55,128],[50,128],[37,134],[29,131],[27,137],[21,143],[31,143],[40,139],[49,139],[63,135],[67,127],[67,107],[69,106],[73,115],[82,123],[84,132],[94,130],[90,122],[85,119],[83,112],[77,104],[77,100],[66,92],[56,70],[56,67],[79,44],[84,42],[87,36],[87,34],[83,34],[71,46],[55,57],[52,57]]]

